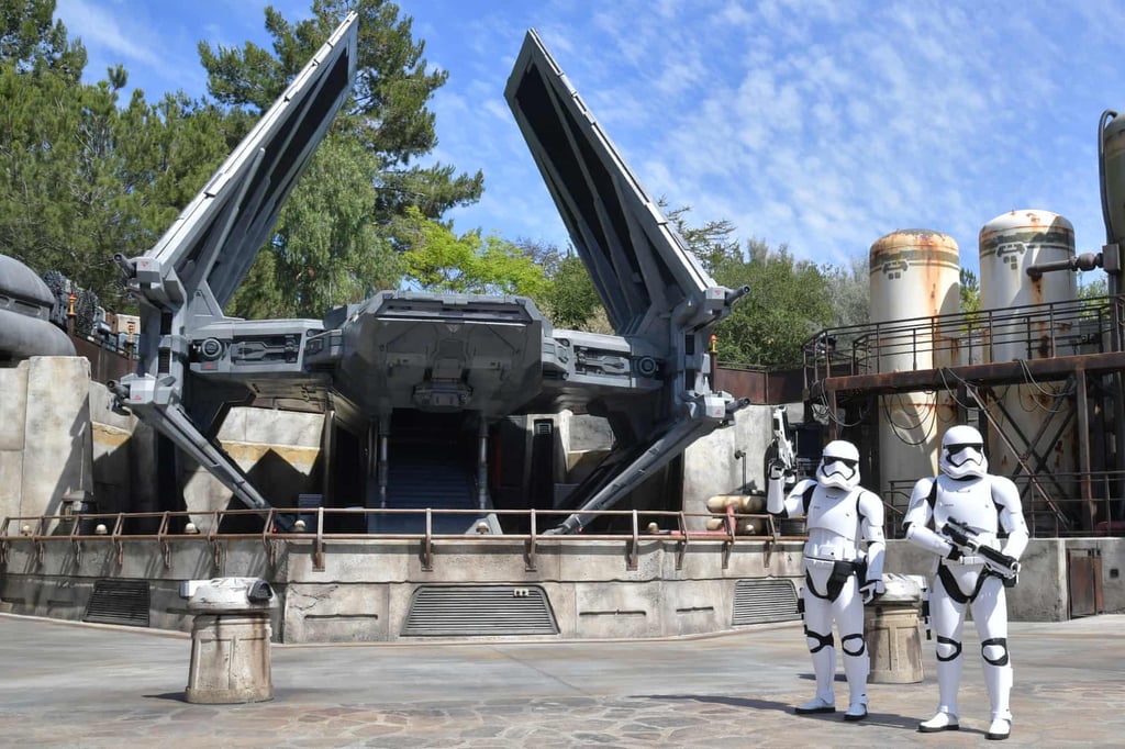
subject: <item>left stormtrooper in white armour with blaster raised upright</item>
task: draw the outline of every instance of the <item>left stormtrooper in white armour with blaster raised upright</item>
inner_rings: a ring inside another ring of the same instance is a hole
[[[860,486],[860,451],[850,442],[829,442],[816,480],[798,481],[781,461],[768,467],[766,509],[781,517],[808,517],[804,544],[804,635],[812,653],[817,695],[798,714],[834,713],[836,649],[832,620],[844,651],[848,683],[846,721],[867,716],[871,661],[863,638],[863,604],[883,588],[883,503]],[[862,549],[866,541],[866,552]]]

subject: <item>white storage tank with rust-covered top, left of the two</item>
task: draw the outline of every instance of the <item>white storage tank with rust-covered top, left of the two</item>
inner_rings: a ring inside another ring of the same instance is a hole
[[[934,317],[961,304],[961,254],[953,237],[929,229],[900,229],[871,245],[868,370],[934,369],[954,363],[960,339]],[[940,435],[954,417],[947,392],[906,392],[879,398],[879,490],[906,509],[910,488],[937,471]]]

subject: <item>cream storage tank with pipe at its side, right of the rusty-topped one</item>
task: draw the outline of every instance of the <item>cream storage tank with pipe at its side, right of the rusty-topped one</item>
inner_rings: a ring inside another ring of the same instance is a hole
[[[1052,341],[1077,333],[1073,330],[1077,316],[1052,314],[1050,307],[1041,305],[1074,301],[1078,297],[1074,273],[1051,271],[1033,279],[1027,269],[1073,258],[1074,227],[1048,210],[1012,210],[981,227],[981,309],[996,312],[991,340],[984,350],[988,361],[1046,359],[1061,353],[1052,349]],[[1001,398],[1005,413],[993,409],[996,426],[989,427],[988,459],[991,471],[1010,475],[1017,466],[1016,454],[1027,451],[1025,439],[1035,440],[1041,433],[1048,437],[1058,434],[1053,443],[1041,440],[1036,445],[1035,451],[1041,455],[1044,445],[1050,450],[1046,464],[1038,467],[1033,460],[1029,468],[1036,473],[1052,475],[1048,494],[1073,497],[1077,496],[1073,482],[1078,464],[1077,419],[1066,413],[1073,407],[1071,400],[1054,397],[1059,388],[1059,383],[1050,382],[1007,388]]]

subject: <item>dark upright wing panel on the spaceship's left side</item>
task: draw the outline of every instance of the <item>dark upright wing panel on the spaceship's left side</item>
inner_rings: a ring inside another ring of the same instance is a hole
[[[146,255],[230,301],[356,79],[358,16],[298,73]]]

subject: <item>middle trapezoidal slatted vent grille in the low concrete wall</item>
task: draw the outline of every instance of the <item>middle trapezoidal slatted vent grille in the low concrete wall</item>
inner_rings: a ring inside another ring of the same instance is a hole
[[[403,637],[558,633],[547,594],[536,585],[423,586],[403,624]]]

